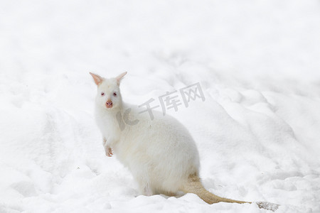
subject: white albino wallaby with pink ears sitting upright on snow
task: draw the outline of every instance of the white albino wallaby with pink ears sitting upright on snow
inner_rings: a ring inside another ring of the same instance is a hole
[[[122,102],[119,90],[121,75],[106,79],[92,74],[97,84],[95,119],[103,136],[105,153],[113,152],[131,171],[142,194],[176,195],[176,192],[194,193],[208,204],[230,200],[208,192],[199,178],[199,154],[188,130],[173,117],[153,111],[140,113],[137,107]],[[121,126],[127,121],[129,125]],[[250,202],[247,202],[250,203]],[[259,207],[277,209],[277,204],[257,202]]]

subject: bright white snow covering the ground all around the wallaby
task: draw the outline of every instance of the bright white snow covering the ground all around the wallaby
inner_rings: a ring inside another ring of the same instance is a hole
[[[88,72],[128,71],[122,97],[196,82],[169,110],[216,195],[320,212],[319,1],[1,1],[0,212],[268,212],[139,195],[107,158]],[[154,102],[159,104],[159,102]]]

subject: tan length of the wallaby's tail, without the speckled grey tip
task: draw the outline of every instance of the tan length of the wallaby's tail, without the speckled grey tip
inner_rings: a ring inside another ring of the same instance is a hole
[[[196,175],[189,176],[186,185],[184,185],[183,187],[183,192],[196,194],[208,204],[213,204],[216,202],[251,203],[240,200],[231,200],[224,197],[219,197],[217,195],[213,195],[203,187],[202,183],[200,182],[200,178],[198,178],[198,176]]]

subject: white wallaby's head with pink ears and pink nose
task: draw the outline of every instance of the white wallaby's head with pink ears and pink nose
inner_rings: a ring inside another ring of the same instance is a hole
[[[93,80],[95,80],[95,84],[97,84],[97,97],[95,98],[96,104],[108,110],[120,107],[122,99],[119,85],[122,77],[126,74],[127,72],[123,72],[117,77],[104,78],[90,72]]]

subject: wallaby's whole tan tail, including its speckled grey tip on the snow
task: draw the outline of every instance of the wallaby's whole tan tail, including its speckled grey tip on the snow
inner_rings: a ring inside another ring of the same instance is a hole
[[[246,201],[240,201],[240,200],[231,200],[228,198],[213,195],[203,187],[202,183],[200,182],[200,178],[198,178],[197,175],[189,176],[188,181],[184,185],[182,191],[186,193],[196,194],[208,204],[213,204],[217,202],[252,203],[252,202],[246,202]],[[275,211],[279,207],[278,204],[273,204],[270,202],[255,202],[255,203],[258,205],[260,209]]]

